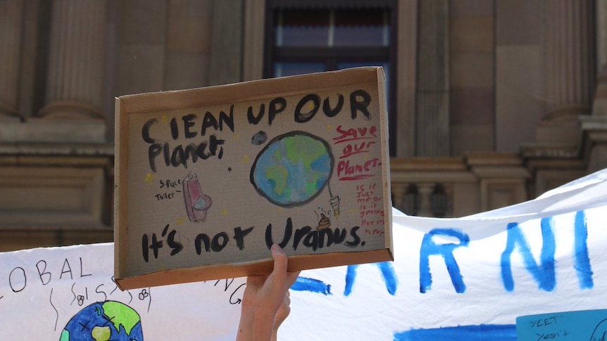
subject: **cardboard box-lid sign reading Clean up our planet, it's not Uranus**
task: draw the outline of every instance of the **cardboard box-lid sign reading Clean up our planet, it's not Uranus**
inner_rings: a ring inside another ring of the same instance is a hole
[[[380,67],[116,99],[120,288],[392,260]]]

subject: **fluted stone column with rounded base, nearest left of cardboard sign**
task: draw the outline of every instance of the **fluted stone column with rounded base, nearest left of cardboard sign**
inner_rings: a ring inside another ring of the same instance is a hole
[[[103,120],[106,1],[54,0],[44,118]]]

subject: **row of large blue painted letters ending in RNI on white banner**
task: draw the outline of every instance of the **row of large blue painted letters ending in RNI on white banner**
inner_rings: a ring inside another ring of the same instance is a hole
[[[562,221],[562,220],[561,220]],[[525,233],[523,233],[518,223],[509,223],[506,226],[506,248],[501,253],[501,278],[503,287],[508,292],[514,290],[514,278],[512,274],[511,258],[515,250],[522,258],[522,263],[525,269],[529,271],[534,281],[536,281],[539,290],[553,291],[556,288],[556,264],[555,250],[556,238],[554,234],[554,219],[553,217],[543,218],[540,222],[542,231],[542,250],[539,253],[539,264],[536,262],[532,254],[531,247],[527,243]],[[574,245],[573,262],[577,278],[580,281],[580,290],[592,289],[594,281],[592,279],[592,267],[590,266],[590,257],[588,252],[587,238],[588,229],[586,214],[584,211],[576,212],[574,221]],[[455,238],[459,243],[437,243],[435,237]],[[567,240],[570,240],[567,238]],[[425,293],[432,288],[432,274],[430,273],[430,256],[439,256],[444,259],[447,271],[451,277],[453,288],[458,293],[463,293],[466,290],[466,285],[463,282],[460,268],[453,256],[453,250],[456,247],[468,247],[470,236],[458,229],[432,229],[423,236],[420,246],[420,292]],[[402,259],[402,262],[407,262],[408,259]],[[380,269],[382,280],[386,285],[386,289],[390,295],[396,294],[398,283],[396,281],[396,271],[392,262],[375,263]],[[346,272],[346,283],[344,288],[344,296],[349,296],[352,292],[354,281],[357,276],[359,265],[348,266]],[[473,271],[474,269],[471,269]],[[313,278],[298,278],[293,286],[294,290],[317,292],[323,295],[331,295],[331,285]]]

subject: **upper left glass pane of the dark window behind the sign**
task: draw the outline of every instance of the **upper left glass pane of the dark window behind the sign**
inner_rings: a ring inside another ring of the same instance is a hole
[[[276,46],[327,46],[329,11],[282,10],[278,12]]]

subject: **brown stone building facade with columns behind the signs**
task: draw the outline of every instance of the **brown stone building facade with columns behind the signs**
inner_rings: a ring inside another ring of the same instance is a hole
[[[271,77],[277,13],[342,10],[384,13],[400,210],[461,217],[607,166],[604,1],[0,0],[0,251],[112,240],[115,97]]]

